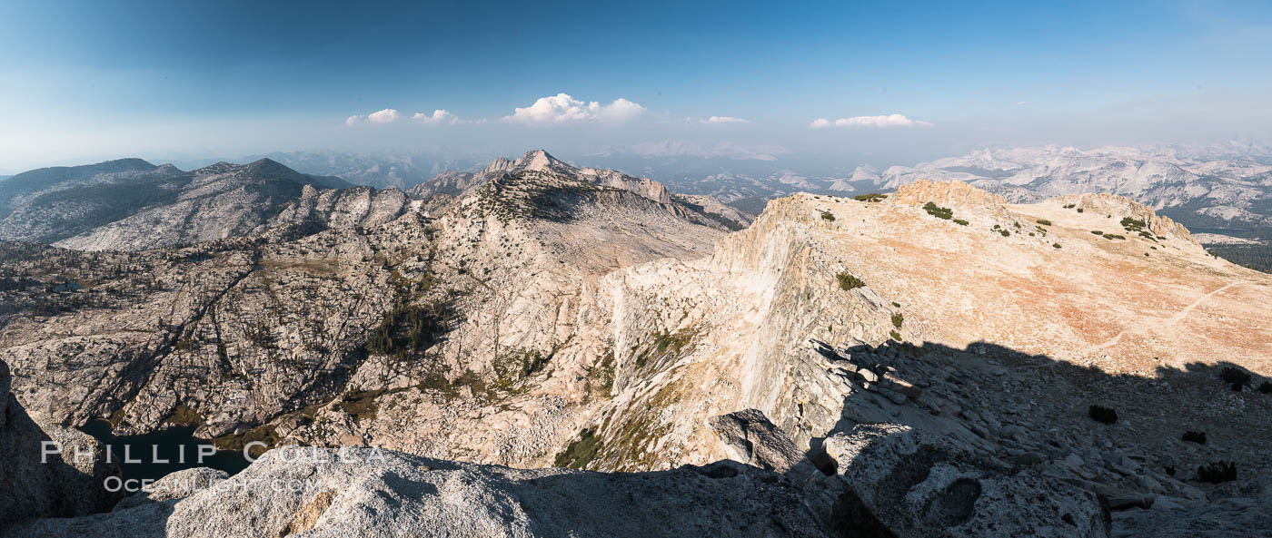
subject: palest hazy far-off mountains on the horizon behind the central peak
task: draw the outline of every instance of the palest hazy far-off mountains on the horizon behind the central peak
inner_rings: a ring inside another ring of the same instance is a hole
[[[427,189],[443,190],[448,184],[473,180],[490,162],[427,154],[296,152],[270,157],[355,184],[410,189],[436,179],[438,185]],[[667,141],[611,147],[585,160],[655,179],[678,193],[710,195],[750,213],[762,211],[770,199],[798,192],[852,194],[892,190],[917,179],[959,179],[1018,203],[1060,194],[1122,194],[1191,227],[1248,237],[1272,235],[1272,148],[1257,143],[985,148],[912,166],[876,167],[852,165],[862,160],[855,155],[833,162],[778,147],[701,147]]]

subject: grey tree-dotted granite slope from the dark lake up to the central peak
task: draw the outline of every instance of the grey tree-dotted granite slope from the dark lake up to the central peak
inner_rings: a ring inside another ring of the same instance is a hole
[[[351,420],[342,402],[469,379],[469,391],[490,387],[477,409],[496,412],[516,396],[511,383],[529,376],[510,362],[548,357],[569,340],[557,316],[576,307],[571,296],[623,265],[701,256],[724,232],[691,208],[539,169],[502,175],[435,221],[378,212],[377,199],[364,198],[368,211],[354,214],[363,226],[271,232],[263,241],[134,254],[14,246],[5,256],[13,274],[59,260],[93,288],[39,297],[28,280],[15,280],[6,299],[15,312],[0,318],[0,345],[27,402],[74,423],[116,414],[121,430],[146,431],[179,404],[204,416],[200,431],[210,436],[313,423],[304,435],[324,443],[363,435],[408,443],[420,431],[377,433],[373,419]],[[402,198],[313,190],[276,221],[307,212],[332,220],[328,194]],[[45,322],[79,329],[42,334]],[[61,355],[75,363],[46,363]],[[78,388],[69,395],[53,386]],[[473,395],[454,404],[472,406]],[[474,458],[500,461],[481,454]]]

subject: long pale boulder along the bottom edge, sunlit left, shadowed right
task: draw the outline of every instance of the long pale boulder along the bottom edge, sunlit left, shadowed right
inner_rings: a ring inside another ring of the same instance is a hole
[[[202,473],[200,476],[207,476]],[[167,478],[165,478],[167,480]],[[164,491],[174,489],[168,485]],[[780,475],[717,462],[520,471],[373,448],[277,448],[184,499],[42,519],[20,537],[826,537]]]

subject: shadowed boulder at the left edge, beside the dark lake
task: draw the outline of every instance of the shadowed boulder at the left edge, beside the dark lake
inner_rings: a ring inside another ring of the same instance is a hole
[[[109,510],[122,494],[104,486],[120,476],[107,448],[76,430],[37,421],[9,387],[9,367],[0,362],[0,530],[25,518]]]

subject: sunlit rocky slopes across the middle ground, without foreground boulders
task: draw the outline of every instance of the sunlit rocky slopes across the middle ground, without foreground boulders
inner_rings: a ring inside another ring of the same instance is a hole
[[[300,236],[8,245],[0,359],[31,409],[121,431],[193,416],[223,447],[650,471],[749,461],[758,439],[716,419],[756,410],[826,476],[846,461],[829,440],[868,423],[1122,508],[1254,495],[1272,468],[1254,390],[1272,277],[1144,204],[916,181],[776,199],[728,233],[655,181],[588,170],[530,152],[418,200],[432,218]],[[1203,448],[1180,440],[1196,429]],[[1192,472],[1216,459],[1253,471]]]

